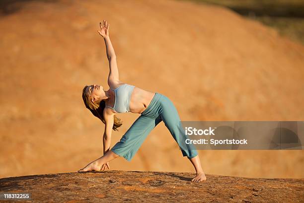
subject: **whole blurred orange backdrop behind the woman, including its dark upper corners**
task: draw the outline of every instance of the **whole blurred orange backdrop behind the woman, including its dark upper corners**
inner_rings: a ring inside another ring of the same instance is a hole
[[[99,22],[120,80],[166,95],[182,121],[303,121],[301,0],[0,1],[0,178],[76,172],[102,155],[84,85],[107,89]],[[113,146],[139,114],[123,120]],[[199,150],[207,174],[304,178],[302,150]],[[195,172],[163,123],[112,170]]]

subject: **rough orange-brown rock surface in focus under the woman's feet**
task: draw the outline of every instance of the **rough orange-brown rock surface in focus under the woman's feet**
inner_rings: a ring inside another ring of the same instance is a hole
[[[150,171],[32,175],[0,179],[0,192],[31,193],[32,199],[22,202],[37,203],[300,203],[304,200],[304,179],[206,175],[207,181],[193,183],[194,175]]]

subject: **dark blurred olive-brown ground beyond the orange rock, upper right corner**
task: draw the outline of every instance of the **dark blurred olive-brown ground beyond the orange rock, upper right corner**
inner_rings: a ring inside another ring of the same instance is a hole
[[[275,28],[280,35],[304,44],[303,0],[189,0],[229,8]]]

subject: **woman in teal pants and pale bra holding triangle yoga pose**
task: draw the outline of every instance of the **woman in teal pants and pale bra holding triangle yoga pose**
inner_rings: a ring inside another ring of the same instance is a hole
[[[197,151],[185,147],[180,137],[179,115],[173,103],[164,95],[157,92],[143,90],[134,85],[123,83],[119,80],[116,56],[109,37],[109,24],[104,20],[97,31],[105,41],[107,58],[110,65],[108,76],[109,90],[104,90],[100,85],[85,86],[82,91],[83,102],[92,114],[105,124],[103,135],[104,155],[89,163],[78,172],[100,171],[109,167],[109,161],[122,156],[130,161],[147,135],[161,121],[164,122],[169,132],[179,144],[183,156],[187,156],[196,170],[193,182],[206,180],[201,167]],[[131,128],[122,136],[110,150],[112,129],[117,131],[122,123],[115,115],[117,113],[139,113],[141,116],[133,123]],[[183,134],[182,134],[183,135]],[[183,135],[185,136],[185,135]]]

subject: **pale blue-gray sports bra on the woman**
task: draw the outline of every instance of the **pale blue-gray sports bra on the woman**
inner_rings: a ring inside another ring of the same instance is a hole
[[[115,92],[115,102],[114,107],[106,106],[117,113],[127,113],[130,111],[130,100],[131,100],[131,94],[134,89],[134,85],[130,84],[122,84],[115,89],[111,88]]]

